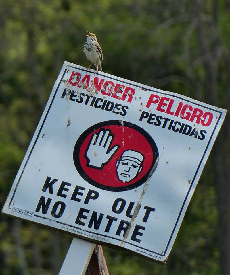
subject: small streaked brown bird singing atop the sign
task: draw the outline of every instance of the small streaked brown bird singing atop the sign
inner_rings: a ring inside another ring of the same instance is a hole
[[[91,62],[89,67],[86,67],[87,70],[92,64],[94,64],[96,67],[96,73],[98,71],[102,72],[101,62],[103,60],[103,53],[101,46],[97,42],[97,36],[95,34],[88,32],[87,40],[83,45],[83,52],[85,53],[86,58]]]

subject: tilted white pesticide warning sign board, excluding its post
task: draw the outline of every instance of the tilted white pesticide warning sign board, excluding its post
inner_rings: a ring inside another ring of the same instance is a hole
[[[165,263],[225,114],[64,62],[3,213]]]

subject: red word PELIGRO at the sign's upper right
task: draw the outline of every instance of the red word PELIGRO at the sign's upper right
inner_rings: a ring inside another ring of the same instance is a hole
[[[152,104],[156,104],[157,111],[176,117],[180,116],[182,119],[201,124],[202,126],[209,126],[213,120],[211,112],[204,112],[200,108],[184,104],[183,102],[175,104],[175,100],[169,97],[151,94],[145,107],[150,108]]]

